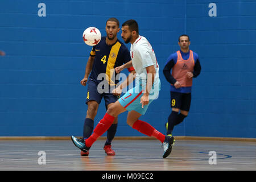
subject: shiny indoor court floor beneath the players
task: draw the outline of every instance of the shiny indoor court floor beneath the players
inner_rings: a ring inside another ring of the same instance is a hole
[[[256,170],[256,142],[176,139],[166,159],[162,158],[163,148],[158,140],[114,140],[115,156],[105,154],[104,143],[105,140],[97,140],[89,156],[80,156],[80,150],[71,140],[0,140],[0,170]],[[44,152],[44,158],[40,151]],[[216,152],[216,164],[209,163],[210,151]]]

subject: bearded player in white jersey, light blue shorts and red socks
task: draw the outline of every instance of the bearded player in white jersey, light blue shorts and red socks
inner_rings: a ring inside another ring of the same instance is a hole
[[[160,90],[159,65],[154,50],[147,39],[139,35],[138,23],[135,20],[127,20],[122,24],[121,36],[125,43],[131,43],[131,61],[115,68],[115,71],[119,73],[122,69],[133,66],[136,71],[135,87],[128,90],[126,94],[109,107],[104,118],[101,119],[93,134],[85,142],[80,142],[73,136],[71,137],[72,141],[80,150],[88,151],[98,137],[109,129],[115,117],[129,111],[127,124],[140,133],[160,140],[164,148],[163,158],[166,158],[171,154],[174,138],[163,135],[149,123],[139,120],[139,117],[146,113],[148,105],[158,98]],[[127,85],[125,83],[119,85],[117,89],[113,90],[113,93],[115,94],[117,90],[123,89],[123,86]]]

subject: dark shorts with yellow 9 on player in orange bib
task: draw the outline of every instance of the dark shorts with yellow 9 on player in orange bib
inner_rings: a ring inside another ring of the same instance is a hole
[[[191,93],[171,92],[171,107],[189,111],[191,105]]]

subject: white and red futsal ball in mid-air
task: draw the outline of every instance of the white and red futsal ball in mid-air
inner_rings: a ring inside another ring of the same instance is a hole
[[[86,28],[82,34],[82,39],[88,46],[95,46],[101,41],[101,32],[95,27]]]

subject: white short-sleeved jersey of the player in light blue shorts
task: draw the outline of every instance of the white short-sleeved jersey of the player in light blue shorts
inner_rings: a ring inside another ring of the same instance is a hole
[[[154,85],[159,85],[159,65],[156,61],[155,52],[151,44],[143,36],[139,36],[133,44],[131,44],[131,61],[133,68],[136,71],[136,82],[142,82],[144,86],[147,83],[147,70],[146,67],[154,65],[155,67],[155,78]]]

